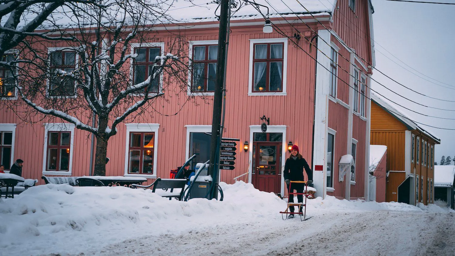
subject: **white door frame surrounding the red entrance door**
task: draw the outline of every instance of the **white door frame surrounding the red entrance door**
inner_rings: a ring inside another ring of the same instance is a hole
[[[248,162],[249,163],[253,163],[253,140],[254,140],[254,137],[253,137],[253,134],[255,132],[258,132],[258,133],[262,133],[261,131],[261,125],[250,125],[250,139],[249,139],[249,145],[248,145]],[[281,147],[282,150],[281,150],[281,168],[283,169],[283,166],[284,164],[286,163],[286,151],[287,151],[287,146],[288,146],[288,143],[286,142],[287,141],[287,137],[286,137],[286,128],[287,126],[286,125],[267,125],[267,132],[281,132],[283,133],[283,146]],[[248,183],[251,183],[251,179],[252,179],[252,170],[253,170],[253,164],[250,164],[249,167],[248,167]],[[281,170],[281,172],[283,173],[284,170]],[[284,176],[281,175],[281,180],[280,180],[280,186],[281,186],[281,189],[280,189],[280,192],[281,192],[281,195],[284,195]]]

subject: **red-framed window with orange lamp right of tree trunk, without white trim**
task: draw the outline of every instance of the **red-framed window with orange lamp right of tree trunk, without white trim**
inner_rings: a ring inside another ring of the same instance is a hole
[[[128,173],[153,174],[154,132],[130,132]]]

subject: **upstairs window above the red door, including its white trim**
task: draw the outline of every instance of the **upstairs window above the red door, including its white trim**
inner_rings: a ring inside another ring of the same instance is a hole
[[[248,95],[286,95],[288,38],[250,39]]]

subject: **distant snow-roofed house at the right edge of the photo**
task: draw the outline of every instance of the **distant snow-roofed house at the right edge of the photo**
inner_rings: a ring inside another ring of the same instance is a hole
[[[435,166],[435,201],[455,209],[455,166]]]

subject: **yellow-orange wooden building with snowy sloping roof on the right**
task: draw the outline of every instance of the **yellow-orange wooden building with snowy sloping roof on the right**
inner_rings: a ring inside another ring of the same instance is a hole
[[[387,146],[386,201],[433,203],[440,139],[374,93],[371,102],[370,144]]]

